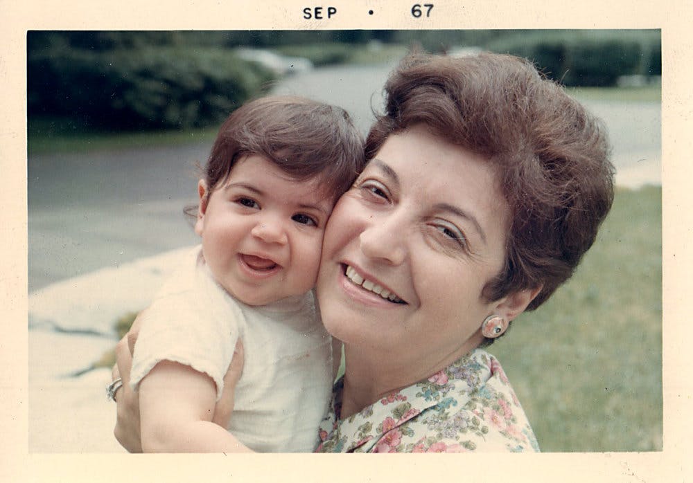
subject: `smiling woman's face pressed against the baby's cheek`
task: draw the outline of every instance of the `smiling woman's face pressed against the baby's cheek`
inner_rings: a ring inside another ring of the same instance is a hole
[[[490,163],[414,127],[390,136],[326,228],[322,317],[351,346],[403,363],[454,361],[499,301],[509,208]]]

